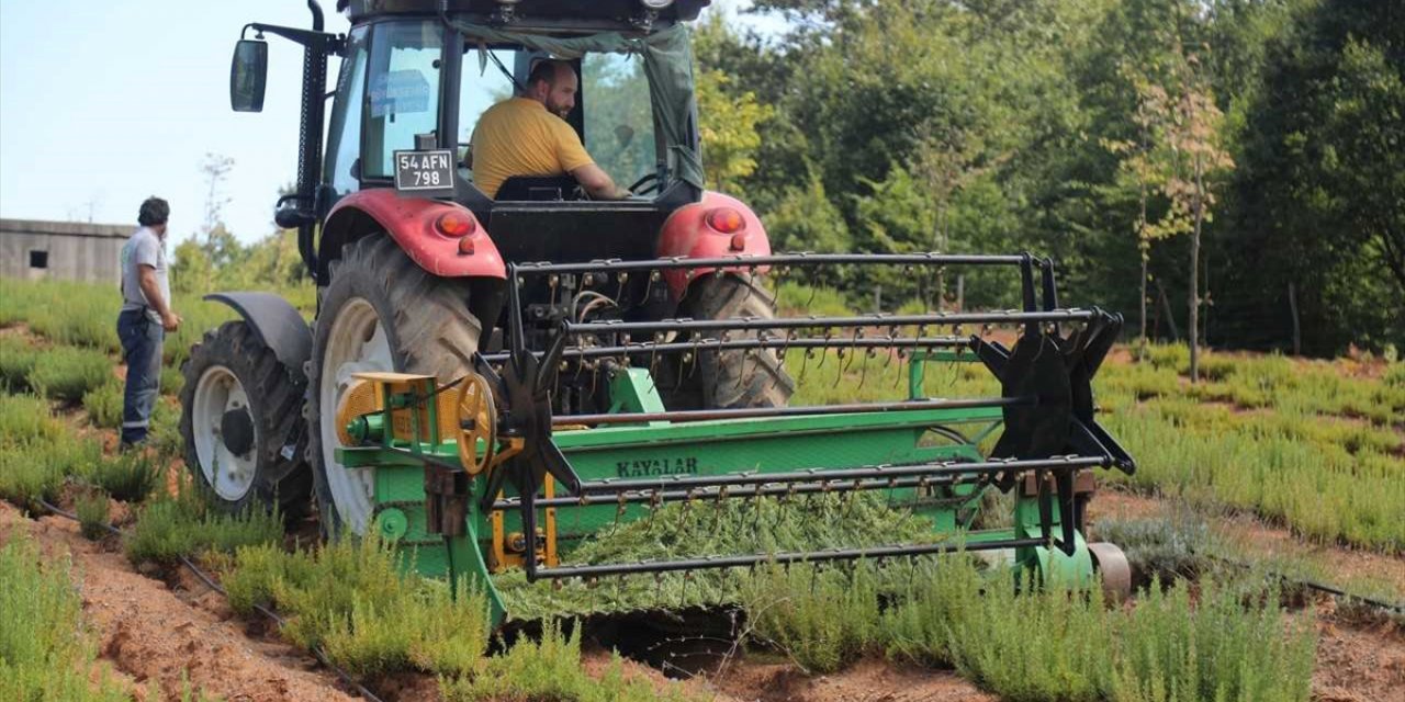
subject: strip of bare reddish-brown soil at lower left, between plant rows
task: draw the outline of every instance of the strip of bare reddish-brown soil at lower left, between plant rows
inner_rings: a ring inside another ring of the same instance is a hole
[[[315,670],[308,654],[246,636],[242,622],[200,607],[198,594],[183,600],[164,583],[136,573],[121,553],[83,539],[69,519],[31,521],[0,503],[0,535],[11,529],[27,529],[46,553],[72,555],[101,658],[135,682],[139,699],[146,692],[180,699],[184,681],[228,701],[354,699],[334,675]]]

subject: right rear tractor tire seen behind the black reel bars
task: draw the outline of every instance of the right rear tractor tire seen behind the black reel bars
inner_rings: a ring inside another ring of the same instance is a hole
[[[679,309],[691,319],[774,319],[776,296],[754,281],[724,272],[700,278]],[[731,334],[754,337],[754,331]],[[677,368],[674,392],[665,396],[673,409],[731,410],[784,407],[795,393],[774,350],[701,351],[697,368]]]

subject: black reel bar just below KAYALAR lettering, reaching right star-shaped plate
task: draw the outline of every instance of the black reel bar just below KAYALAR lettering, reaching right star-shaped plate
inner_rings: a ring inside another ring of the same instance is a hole
[[[813,468],[806,470],[784,470],[777,473],[724,473],[717,476],[658,476],[658,477],[607,477],[580,484],[580,493],[599,491],[628,491],[628,490],[670,490],[680,487],[717,487],[733,484],[776,484],[776,483],[805,483],[816,480],[864,480],[891,479],[913,476],[941,476],[941,475],[979,475],[999,473],[1005,470],[1031,470],[1035,468],[1050,470],[1066,470],[1082,468],[1097,468],[1110,465],[1110,459],[1102,456],[1057,456],[1027,461],[940,461],[934,463],[917,463],[905,466],[864,466],[864,468]]]

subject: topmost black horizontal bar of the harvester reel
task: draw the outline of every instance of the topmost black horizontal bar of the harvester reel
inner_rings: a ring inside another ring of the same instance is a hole
[[[520,263],[514,265],[516,275],[573,274],[573,272],[615,272],[615,271],[662,271],[676,268],[759,268],[763,265],[1020,265],[1027,256],[965,256],[965,254],[774,254],[774,256],[718,256],[711,258],[659,258],[648,261],[621,261],[618,258],[565,263],[549,261]],[[1035,260],[1035,265],[1038,260]]]

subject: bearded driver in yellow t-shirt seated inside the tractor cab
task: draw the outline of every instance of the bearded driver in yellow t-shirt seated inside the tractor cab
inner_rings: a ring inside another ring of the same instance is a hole
[[[531,69],[523,95],[488,108],[473,128],[473,183],[496,197],[513,176],[570,174],[594,199],[624,199],[629,191],[614,184],[590,159],[565,117],[576,107],[580,81],[570,63],[541,60]]]

